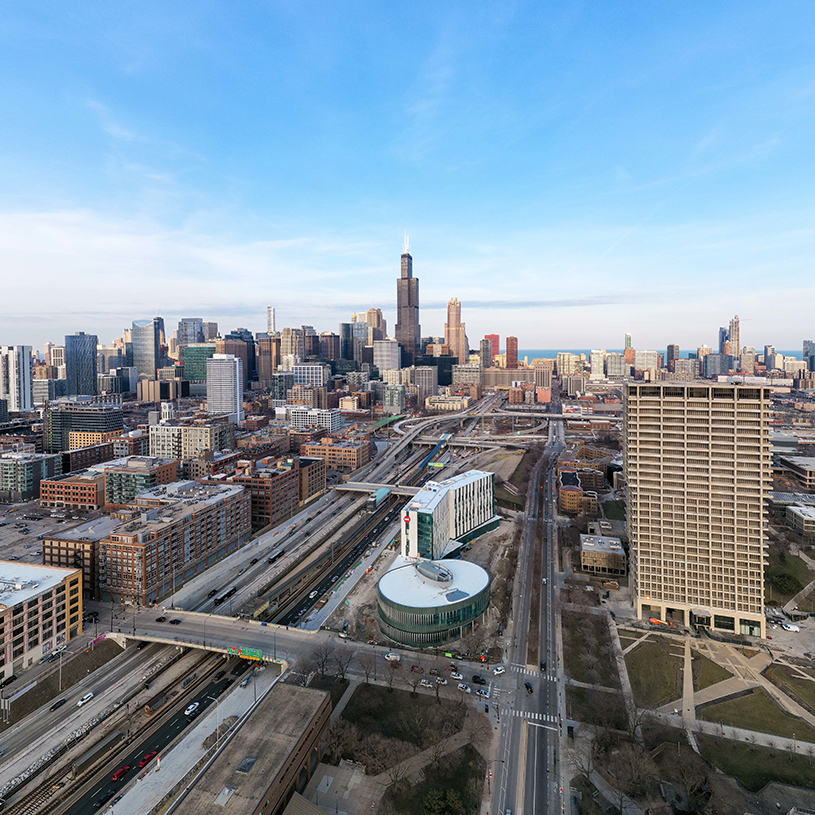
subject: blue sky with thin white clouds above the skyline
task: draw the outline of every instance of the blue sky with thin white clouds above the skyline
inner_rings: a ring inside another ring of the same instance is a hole
[[[223,330],[815,333],[810,3],[6,2],[0,344]]]

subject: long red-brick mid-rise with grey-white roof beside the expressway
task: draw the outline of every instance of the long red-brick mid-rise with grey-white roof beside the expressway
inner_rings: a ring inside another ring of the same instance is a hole
[[[249,542],[249,495],[237,484],[176,481],[136,496],[99,541],[105,603],[148,605]],[[125,517],[129,516],[129,517]]]

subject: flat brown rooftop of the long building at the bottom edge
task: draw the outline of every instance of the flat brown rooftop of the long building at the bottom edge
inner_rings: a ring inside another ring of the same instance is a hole
[[[278,682],[207,768],[179,815],[254,812],[297,747],[328,693]]]

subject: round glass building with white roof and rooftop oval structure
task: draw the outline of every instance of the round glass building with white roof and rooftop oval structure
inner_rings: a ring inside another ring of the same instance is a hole
[[[377,586],[379,627],[402,645],[433,646],[466,634],[490,602],[490,576],[463,560],[399,558]]]

